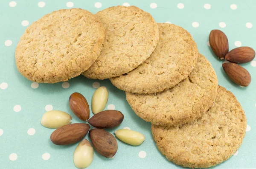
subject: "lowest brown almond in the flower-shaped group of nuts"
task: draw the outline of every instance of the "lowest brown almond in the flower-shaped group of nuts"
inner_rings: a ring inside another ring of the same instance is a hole
[[[103,129],[90,130],[90,139],[94,148],[106,158],[112,158],[117,152],[116,138]]]

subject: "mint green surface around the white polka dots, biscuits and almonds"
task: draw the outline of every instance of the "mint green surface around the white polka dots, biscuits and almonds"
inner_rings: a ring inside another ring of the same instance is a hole
[[[38,2],[44,1],[43,8],[38,7]],[[251,130],[246,133],[243,144],[236,156],[224,163],[215,166],[216,169],[226,168],[256,168],[256,67],[250,63],[244,64],[252,76],[249,87],[235,85],[222,70],[222,61],[216,59],[207,45],[209,32],[212,29],[221,29],[229,39],[230,50],[235,48],[234,42],[241,41],[242,46],[256,49],[256,1],[254,0],[16,0],[17,6],[11,8],[10,0],[0,0],[0,84],[6,82],[8,87],[0,89],[0,169],[75,169],[73,152],[77,144],[70,146],[56,146],[51,143],[49,136],[52,129],[47,129],[40,124],[41,116],[45,113],[44,107],[51,104],[54,110],[63,110],[73,117],[72,122],[81,122],[71,112],[68,98],[73,92],[82,93],[89,103],[96,90],[93,82],[99,82],[109,90],[108,104],[114,104],[116,110],[122,111],[125,119],[119,127],[108,130],[113,133],[116,129],[130,127],[145,135],[145,142],[140,146],[129,146],[118,140],[118,152],[114,159],[106,159],[95,152],[91,169],[163,169],[181,168],[167,161],[157,150],[152,139],[150,124],[146,123],[131,110],[125,100],[125,92],[118,90],[107,80],[91,80],[83,76],[69,81],[70,87],[64,89],[62,83],[39,84],[37,89],[31,88],[29,80],[17,71],[15,66],[15,48],[20,36],[26,27],[21,25],[23,20],[28,20],[29,25],[45,14],[67,8],[66,3],[71,1],[74,8],[84,8],[93,13],[110,6],[122,5],[128,2],[148,11],[158,23],[169,21],[187,29],[198,44],[201,54],[207,57],[215,69],[219,84],[232,91],[241,102],[247,116],[247,124]],[[101,2],[101,8],[94,4]],[[150,8],[150,3],[157,3],[157,8]],[[177,8],[178,3],[183,3],[184,8]],[[209,3],[209,10],[204,4]],[[236,4],[237,9],[232,10],[231,4]],[[199,27],[193,28],[192,22],[198,22]],[[220,28],[219,23],[225,22],[226,27]],[[245,23],[253,24],[246,28]],[[12,40],[12,45],[4,45],[6,40]],[[256,59],[254,59],[256,60]],[[15,112],[13,107],[21,106],[20,112]],[[92,115],[92,113],[91,113]],[[28,135],[27,130],[34,128],[35,135]],[[86,136],[88,138],[88,136]],[[147,153],[145,158],[140,158],[138,153],[143,150]],[[48,152],[51,157],[45,161],[42,154]],[[11,153],[17,154],[17,160],[9,160]]]

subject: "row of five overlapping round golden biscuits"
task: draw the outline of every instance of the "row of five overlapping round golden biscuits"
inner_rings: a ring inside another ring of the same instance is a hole
[[[180,26],[156,23],[135,6],[95,15],[54,11],[26,29],[16,49],[27,79],[55,83],[80,74],[110,79],[134,112],[152,124],[160,152],[192,168],[215,166],[242,143],[246,117],[236,97]]]

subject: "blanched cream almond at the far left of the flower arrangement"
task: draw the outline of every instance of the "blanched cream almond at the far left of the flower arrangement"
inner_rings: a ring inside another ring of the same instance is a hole
[[[66,112],[60,110],[51,110],[44,113],[41,119],[41,124],[47,128],[57,129],[66,124],[70,124],[71,119],[72,117]]]

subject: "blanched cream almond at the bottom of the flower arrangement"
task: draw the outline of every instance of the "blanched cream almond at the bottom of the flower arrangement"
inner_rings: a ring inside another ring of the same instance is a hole
[[[73,161],[77,168],[84,169],[93,162],[93,147],[86,139],[82,140],[75,149]]]

